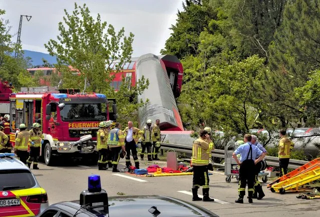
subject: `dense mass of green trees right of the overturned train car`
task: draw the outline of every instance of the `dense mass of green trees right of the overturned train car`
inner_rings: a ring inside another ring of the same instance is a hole
[[[182,60],[178,102],[188,129],[209,125],[235,135],[320,124],[317,1],[185,5],[162,52]]]

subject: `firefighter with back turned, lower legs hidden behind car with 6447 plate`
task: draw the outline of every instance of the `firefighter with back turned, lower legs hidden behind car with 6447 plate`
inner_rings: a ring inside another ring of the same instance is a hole
[[[29,157],[28,143],[30,139],[30,132],[26,131],[27,127],[25,124],[20,124],[19,129],[20,132],[18,133],[15,141],[15,153],[17,153],[19,160],[27,165],[27,159]]]

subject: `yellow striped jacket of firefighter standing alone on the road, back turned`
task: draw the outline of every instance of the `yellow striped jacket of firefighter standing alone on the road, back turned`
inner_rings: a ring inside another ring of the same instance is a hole
[[[198,138],[192,145],[192,165],[204,166],[209,164],[211,150],[214,149],[213,142],[208,142],[202,138]]]

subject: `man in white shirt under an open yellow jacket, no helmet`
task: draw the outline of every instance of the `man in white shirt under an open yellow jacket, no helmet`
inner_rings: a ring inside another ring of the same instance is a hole
[[[131,165],[130,162],[130,151],[132,152],[132,157],[135,163],[135,167],[139,169],[139,160],[137,155],[137,143],[139,139],[140,130],[136,127],[133,127],[132,121],[128,122],[128,127],[124,130],[125,135],[125,148],[126,148],[126,166],[129,168]]]

